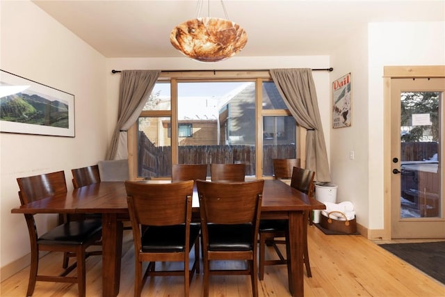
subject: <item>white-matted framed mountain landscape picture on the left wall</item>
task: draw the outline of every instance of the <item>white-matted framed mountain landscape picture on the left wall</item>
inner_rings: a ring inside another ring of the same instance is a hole
[[[0,132],[75,137],[74,95],[0,70]]]

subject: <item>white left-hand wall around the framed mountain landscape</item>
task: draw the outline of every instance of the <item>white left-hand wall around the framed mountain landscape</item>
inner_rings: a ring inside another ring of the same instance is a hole
[[[0,134],[1,250],[0,266],[29,253],[24,216],[17,207],[17,177],[71,169],[104,159],[108,146],[106,122],[106,61],[30,1],[1,1],[0,68],[75,95],[76,137]],[[42,223],[54,224],[55,215]],[[29,263],[28,263],[29,264]],[[2,270],[1,277],[5,278]]]

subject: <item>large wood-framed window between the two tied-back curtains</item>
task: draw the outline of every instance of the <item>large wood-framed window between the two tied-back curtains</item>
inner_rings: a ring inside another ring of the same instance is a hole
[[[138,178],[170,177],[172,163],[245,163],[246,176],[271,177],[272,159],[298,156],[296,122],[268,73],[199,73],[156,83],[129,137]]]

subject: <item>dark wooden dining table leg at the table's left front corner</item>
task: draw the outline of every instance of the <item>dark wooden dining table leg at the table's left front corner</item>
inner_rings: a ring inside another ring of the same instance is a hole
[[[102,296],[118,296],[122,256],[122,221],[117,214],[102,214]]]

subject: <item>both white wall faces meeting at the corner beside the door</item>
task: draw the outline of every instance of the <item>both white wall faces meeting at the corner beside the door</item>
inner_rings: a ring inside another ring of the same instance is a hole
[[[444,29],[444,22],[371,23],[330,57],[331,81],[348,72],[352,79],[352,125],[330,128],[332,179],[337,200],[352,201],[369,230],[384,227],[383,67],[444,65]]]

